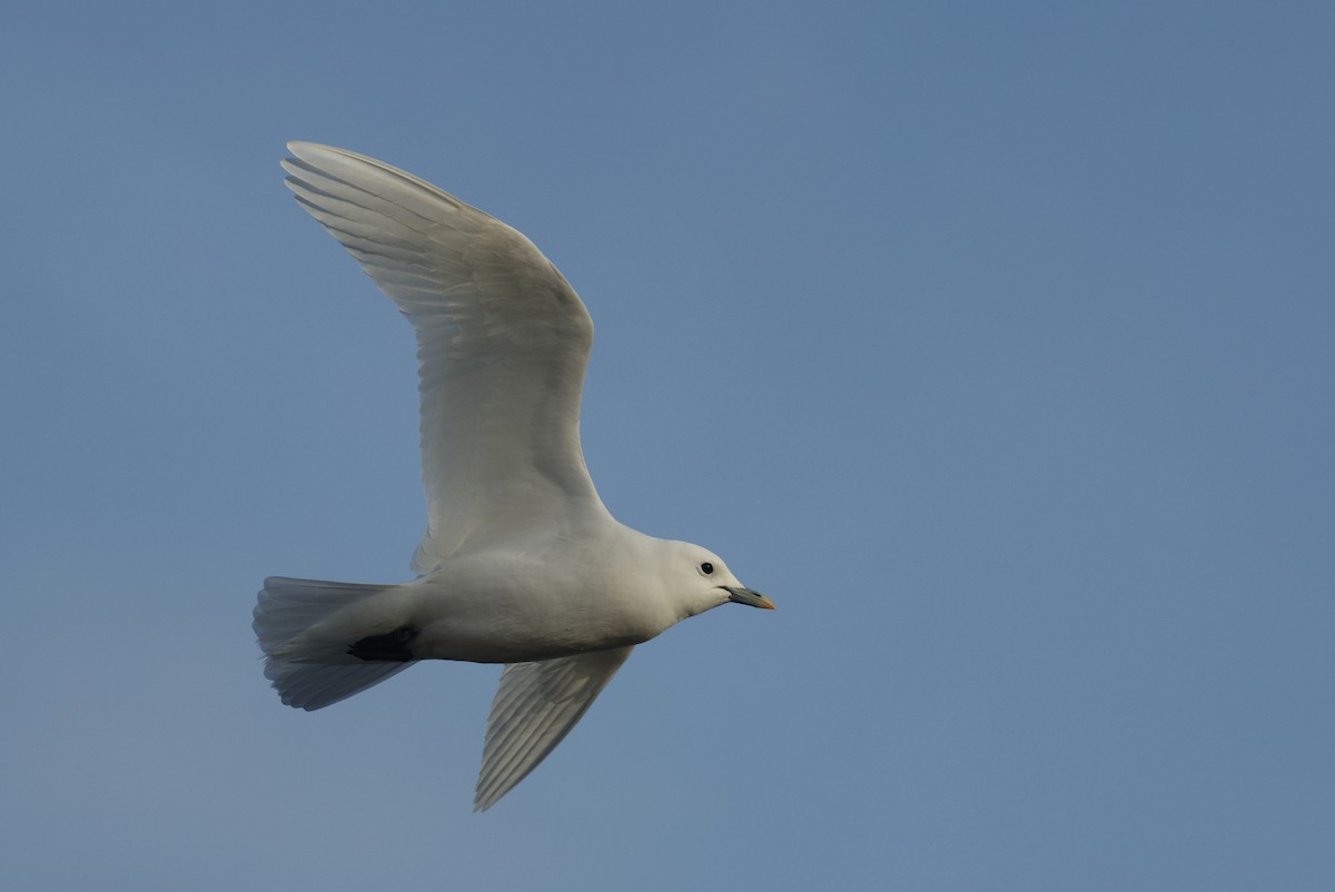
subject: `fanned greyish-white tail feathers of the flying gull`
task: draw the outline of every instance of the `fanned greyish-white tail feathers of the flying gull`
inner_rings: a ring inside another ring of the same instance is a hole
[[[264,580],[251,628],[264,652],[264,677],[284,704],[320,709],[413,665],[352,656],[350,637],[336,632],[344,624],[335,614],[391,588],[279,576]]]

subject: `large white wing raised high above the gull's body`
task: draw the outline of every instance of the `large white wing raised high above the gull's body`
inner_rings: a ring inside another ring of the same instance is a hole
[[[413,323],[430,573],[465,543],[606,513],[579,449],[593,322],[523,235],[430,183],[290,143],[287,186]]]

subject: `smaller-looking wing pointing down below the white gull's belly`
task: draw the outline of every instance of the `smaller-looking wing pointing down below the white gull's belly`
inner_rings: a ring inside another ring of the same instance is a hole
[[[557,748],[631,650],[597,650],[505,668],[487,717],[474,811],[495,805]]]

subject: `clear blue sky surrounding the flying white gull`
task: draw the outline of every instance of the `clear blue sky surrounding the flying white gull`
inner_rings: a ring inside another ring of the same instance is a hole
[[[4,19],[4,888],[1335,888],[1330,4]],[[266,576],[423,525],[411,331],[287,139],[533,238],[607,506],[780,605],[486,815],[497,668],[262,677]]]

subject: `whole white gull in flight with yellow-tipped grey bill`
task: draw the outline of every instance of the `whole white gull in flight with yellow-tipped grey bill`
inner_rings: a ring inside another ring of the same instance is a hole
[[[729,601],[773,609],[698,545],[615,521],[579,449],[593,322],[495,218],[340,148],[288,143],[287,186],[413,323],[426,535],[396,585],[271,577],[264,676],[320,709],[418,660],[506,664],[474,809],[523,780],[631,649]]]

